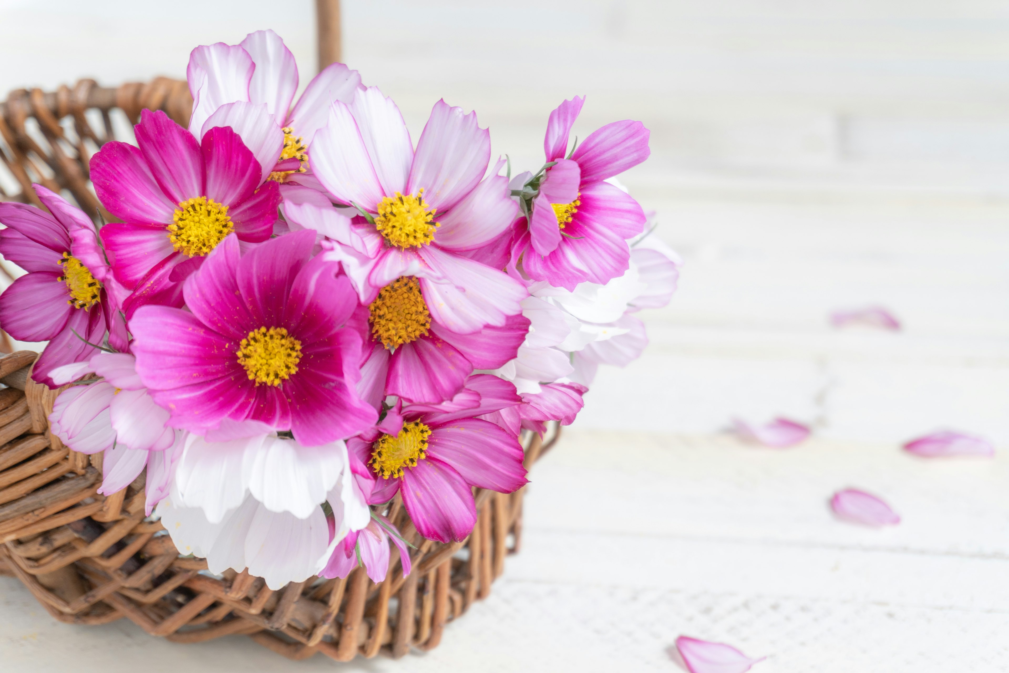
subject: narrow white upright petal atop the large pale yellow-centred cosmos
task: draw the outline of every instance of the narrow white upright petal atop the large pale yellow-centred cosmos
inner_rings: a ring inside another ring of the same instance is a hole
[[[382,190],[388,196],[404,193],[414,161],[414,146],[400,108],[391,98],[382,96],[378,87],[368,87],[354,96],[350,112]]]

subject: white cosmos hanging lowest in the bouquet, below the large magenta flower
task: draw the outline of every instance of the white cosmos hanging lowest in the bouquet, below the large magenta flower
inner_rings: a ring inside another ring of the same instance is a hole
[[[226,423],[191,435],[157,515],[179,551],[205,557],[211,572],[247,567],[277,589],[318,574],[370,511],[342,441],[305,447],[263,427]]]

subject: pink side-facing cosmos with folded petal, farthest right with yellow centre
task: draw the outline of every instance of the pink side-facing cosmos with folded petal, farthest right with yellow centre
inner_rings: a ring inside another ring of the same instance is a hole
[[[564,101],[550,113],[543,148],[547,169],[533,203],[528,232],[518,239],[523,269],[534,281],[574,290],[603,285],[628,268],[627,239],[642,232],[638,202],[605,181],[638,165],[650,153],[640,121],[615,121],[589,134],[565,158],[568,136],[584,98]]]

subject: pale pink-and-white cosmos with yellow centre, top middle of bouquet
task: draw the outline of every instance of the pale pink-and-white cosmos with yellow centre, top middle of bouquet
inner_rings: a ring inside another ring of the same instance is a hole
[[[374,87],[353,102],[336,102],[316,133],[309,162],[338,203],[367,213],[351,226],[344,215],[320,213],[315,204],[289,208],[297,224],[312,227],[323,214],[346,221],[345,237],[326,241],[326,257],[339,261],[361,302],[398,278],[412,276],[432,317],[458,334],[502,327],[522,312],[521,283],[461,252],[483,247],[518,216],[502,163],[483,179],[490,135],[444,101],[435,104],[414,150],[396,104]],[[325,232],[323,232],[325,233]],[[329,235],[329,234],[327,234]]]

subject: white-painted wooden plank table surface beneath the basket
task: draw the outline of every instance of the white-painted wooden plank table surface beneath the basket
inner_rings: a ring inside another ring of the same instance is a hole
[[[25,72],[50,87],[181,73],[190,42],[265,25],[312,63],[312,31],[298,32],[307,0],[283,16],[274,3],[240,16],[176,4],[157,30],[146,6],[68,4],[46,17],[59,44],[29,59],[15,19],[42,10],[0,3],[0,58],[17,64],[0,85]],[[646,355],[600,371],[537,465],[522,553],[490,597],[437,650],[346,670],[676,671],[665,650],[679,635],[768,655],[754,669],[767,673],[1009,668],[1009,24],[998,7],[344,6],[350,65],[397,99],[415,139],[441,96],[477,109],[495,151],[521,166],[540,160],[562,97],[589,95],[582,137],[643,119],[653,156],[625,182],[686,260],[673,304],[645,316]],[[827,325],[832,310],[876,303],[904,331]],[[733,416],[779,414],[813,424],[814,438],[772,450],[724,432]],[[899,450],[941,427],[1000,451],[924,461]],[[884,496],[903,522],[833,520],[826,501],[847,486]],[[176,646],[124,621],[58,625],[0,578],[4,673],[140,668],[334,664],[240,638]]]

